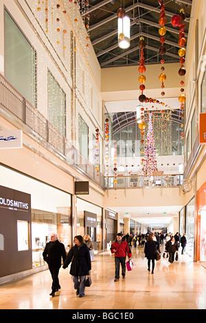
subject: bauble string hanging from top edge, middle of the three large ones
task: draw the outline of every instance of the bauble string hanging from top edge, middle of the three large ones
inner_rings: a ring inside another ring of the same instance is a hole
[[[165,34],[167,32],[166,28],[165,28],[165,23],[167,22],[165,19],[165,5],[163,5],[163,1],[158,1],[159,5],[160,5],[160,18],[159,18],[159,25],[161,25],[161,27],[159,28],[159,34],[160,34],[160,43],[161,43],[161,47],[159,48],[159,54],[162,55],[161,58],[161,64],[165,63],[165,60],[163,59],[163,55],[165,54],[165,52],[167,51],[166,47],[164,46],[165,43]],[[163,73],[163,71],[165,70],[165,67],[161,67],[161,71],[162,73],[159,75],[159,80],[161,81],[161,88],[164,89],[164,82],[166,80],[166,75],[165,73]],[[164,96],[165,92],[161,91],[161,96]]]

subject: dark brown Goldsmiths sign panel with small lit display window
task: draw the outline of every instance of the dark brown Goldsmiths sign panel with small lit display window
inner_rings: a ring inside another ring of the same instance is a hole
[[[31,223],[31,195],[0,186],[0,277],[32,269]]]

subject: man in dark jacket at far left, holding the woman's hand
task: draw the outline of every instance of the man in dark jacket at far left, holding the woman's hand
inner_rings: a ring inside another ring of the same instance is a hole
[[[46,247],[43,252],[43,258],[49,266],[49,271],[52,275],[52,293],[49,295],[54,297],[55,292],[58,291],[61,287],[58,280],[58,272],[61,267],[61,260],[65,260],[67,257],[65,246],[58,241],[58,235],[52,234],[50,236],[49,243],[46,244]]]

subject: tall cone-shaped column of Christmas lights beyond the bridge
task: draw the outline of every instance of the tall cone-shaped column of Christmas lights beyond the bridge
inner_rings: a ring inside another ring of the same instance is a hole
[[[149,114],[148,133],[146,137],[146,144],[144,148],[144,161],[142,171],[144,176],[154,175],[157,172],[157,159],[155,148],[155,137],[152,127],[152,113]]]

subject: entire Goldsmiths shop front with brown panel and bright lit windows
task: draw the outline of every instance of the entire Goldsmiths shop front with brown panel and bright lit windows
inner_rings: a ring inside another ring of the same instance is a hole
[[[1,259],[2,256],[8,259],[11,254],[13,257],[13,249],[17,255],[14,258],[16,269],[2,266],[7,269],[1,277],[46,265],[43,249],[54,232],[68,252],[71,247],[71,194],[5,166],[0,166],[0,178],[0,234],[4,244],[4,250],[0,248]],[[9,209],[3,205],[6,201],[13,201]],[[27,210],[19,210],[16,205],[27,205]]]

